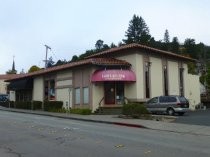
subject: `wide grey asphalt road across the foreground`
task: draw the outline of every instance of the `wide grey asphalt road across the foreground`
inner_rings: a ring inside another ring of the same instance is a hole
[[[1,157],[210,156],[210,137],[0,111]]]

